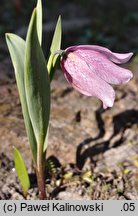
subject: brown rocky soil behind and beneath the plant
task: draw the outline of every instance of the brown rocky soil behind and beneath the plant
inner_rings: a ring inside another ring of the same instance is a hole
[[[62,72],[56,72],[47,152],[49,199],[138,199],[137,66],[131,65],[132,81],[115,87],[115,104],[107,110],[98,99],[73,90]],[[5,59],[0,64],[0,199],[24,199],[13,146],[20,150],[31,180],[26,199],[38,199],[13,69]]]

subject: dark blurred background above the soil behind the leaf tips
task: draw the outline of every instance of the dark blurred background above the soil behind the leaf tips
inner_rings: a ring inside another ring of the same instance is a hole
[[[36,0],[0,1],[0,38],[5,32],[25,36]],[[138,0],[42,0],[47,30],[43,46],[49,46],[55,22],[62,15],[62,46],[99,44],[114,51],[138,48]],[[2,41],[1,40],[1,41]]]

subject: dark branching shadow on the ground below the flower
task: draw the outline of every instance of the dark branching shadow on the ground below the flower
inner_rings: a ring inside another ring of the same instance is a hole
[[[96,111],[96,119],[97,119],[98,126],[100,129],[98,136],[96,138],[89,137],[89,138],[85,139],[77,147],[76,165],[79,169],[83,168],[83,166],[84,166],[84,164],[88,158],[90,158],[92,163],[94,163],[93,157],[95,155],[98,155],[100,153],[104,153],[105,151],[107,151],[110,148],[116,148],[119,145],[121,145],[123,142],[124,131],[127,128],[131,128],[134,124],[138,123],[138,111],[135,109],[127,110],[125,112],[117,114],[113,117],[113,127],[114,127],[113,128],[113,134],[111,135],[109,140],[104,141],[104,142],[101,141],[100,143],[96,143],[96,142],[98,142],[99,139],[104,137],[105,132],[106,132],[104,129],[104,122],[103,122],[102,116],[101,116],[101,114],[103,112],[104,111],[102,111],[101,109],[98,109]],[[120,133],[119,140],[115,141],[114,144],[112,146],[110,146],[111,140],[119,133]],[[91,145],[92,142],[94,142],[93,146],[89,147],[89,145]],[[86,147],[86,146],[88,146],[88,147]],[[83,149],[85,147],[86,147],[86,149],[83,151]]]

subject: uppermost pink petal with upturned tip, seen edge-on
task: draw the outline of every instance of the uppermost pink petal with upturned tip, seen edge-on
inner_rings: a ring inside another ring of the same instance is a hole
[[[67,51],[75,51],[75,50],[92,50],[97,51],[103,55],[105,55],[110,61],[117,63],[117,64],[123,64],[130,60],[133,53],[115,53],[110,51],[109,49],[102,47],[102,46],[96,46],[96,45],[80,45],[80,46],[72,46],[67,48]]]

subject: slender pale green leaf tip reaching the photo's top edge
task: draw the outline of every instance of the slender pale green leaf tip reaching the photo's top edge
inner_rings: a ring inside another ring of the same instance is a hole
[[[39,43],[42,43],[42,2],[41,0],[37,1],[37,34],[39,38]]]

